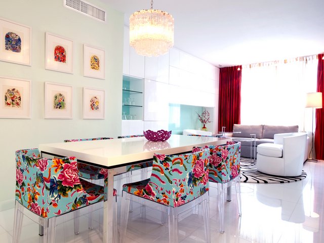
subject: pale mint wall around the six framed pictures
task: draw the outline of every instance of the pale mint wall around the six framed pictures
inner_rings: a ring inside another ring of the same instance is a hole
[[[0,61],[0,76],[31,80],[31,118],[0,118],[0,211],[14,207],[15,150],[66,138],[121,134],[124,15],[99,0],[87,2],[107,12],[99,22],[63,7],[62,0],[1,1],[0,17],[32,28],[32,65]],[[73,40],[73,74],[45,69],[45,32]],[[83,76],[83,44],[105,50],[105,80]],[[73,86],[73,119],[44,119],[44,83]],[[105,119],[83,119],[83,87],[104,89]]]

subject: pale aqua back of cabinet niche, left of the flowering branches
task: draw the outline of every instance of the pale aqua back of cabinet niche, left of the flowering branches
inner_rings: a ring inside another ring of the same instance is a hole
[[[169,104],[169,130],[172,134],[182,134],[184,129],[201,128],[196,112],[201,114],[204,107],[192,105]]]

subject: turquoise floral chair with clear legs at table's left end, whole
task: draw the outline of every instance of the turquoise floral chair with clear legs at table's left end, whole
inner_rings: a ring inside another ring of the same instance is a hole
[[[77,234],[78,209],[104,198],[102,186],[79,178],[75,157],[49,159],[42,158],[38,149],[18,150],[13,242],[19,242],[23,215],[28,211],[44,228],[43,242],[54,242],[56,217],[73,211]],[[116,229],[116,221],[114,226]]]

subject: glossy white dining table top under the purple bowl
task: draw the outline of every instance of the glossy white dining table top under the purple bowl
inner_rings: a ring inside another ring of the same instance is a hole
[[[145,137],[40,144],[39,150],[61,156],[75,156],[103,167],[150,159],[155,152],[174,154],[191,151],[193,146],[220,145],[231,138],[171,135],[165,142],[151,142]]]

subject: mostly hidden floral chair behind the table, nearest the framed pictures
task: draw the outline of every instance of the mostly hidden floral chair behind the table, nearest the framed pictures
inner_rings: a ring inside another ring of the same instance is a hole
[[[80,141],[92,141],[92,140],[105,140],[105,139],[113,139],[113,138],[82,138],[82,139],[66,139],[64,142],[80,142]],[[92,183],[94,183],[93,180],[100,180],[104,179],[104,175],[108,172],[105,172],[105,169],[101,169],[99,167],[95,166],[89,166],[84,163],[77,163],[77,169],[79,170],[79,177],[91,180]]]

